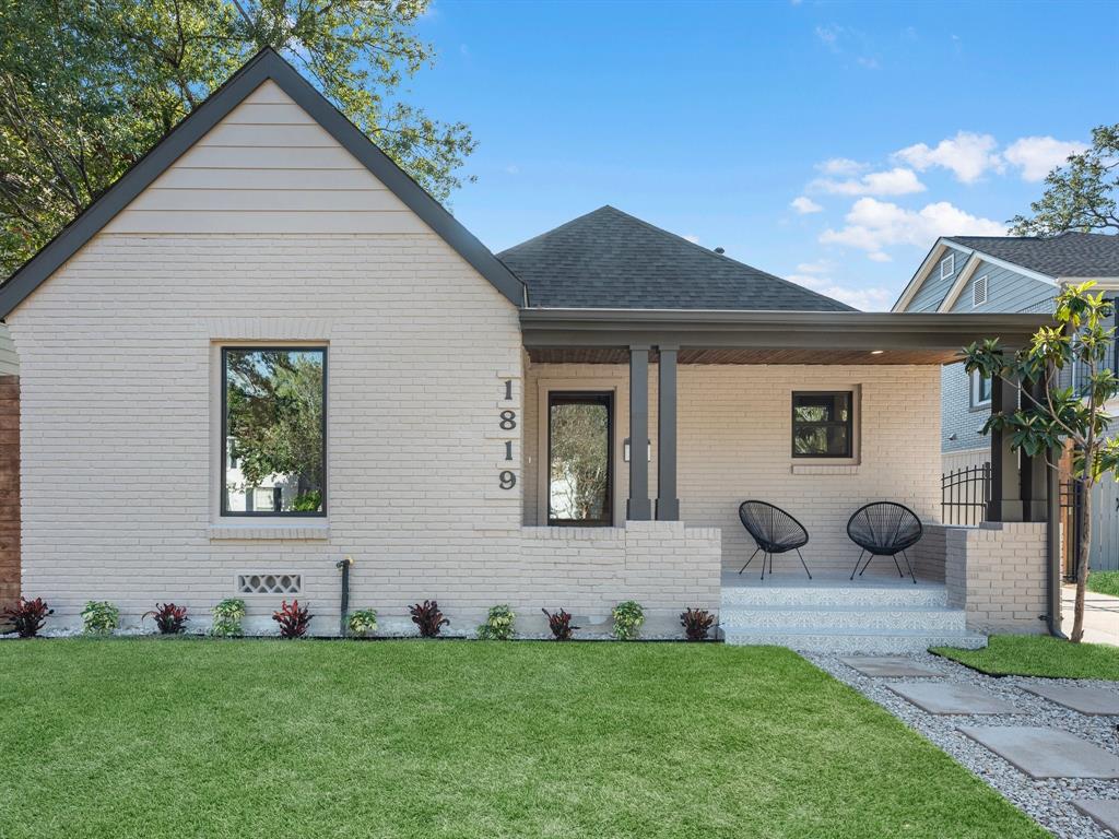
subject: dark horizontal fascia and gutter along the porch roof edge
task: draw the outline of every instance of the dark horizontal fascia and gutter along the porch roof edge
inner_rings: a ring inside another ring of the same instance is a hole
[[[524,309],[529,349],[675,345],[758,349],[958,349],[999,337],[1025,346],[1047,314],[893,312],[653,311],[648,309]]]

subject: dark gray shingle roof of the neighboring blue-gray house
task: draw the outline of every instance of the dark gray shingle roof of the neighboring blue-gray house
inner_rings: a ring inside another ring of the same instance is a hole
[[[1119,276],[1119,236],[1062,233],[1060,236],[948,236],[965,247],[1049,276]]]

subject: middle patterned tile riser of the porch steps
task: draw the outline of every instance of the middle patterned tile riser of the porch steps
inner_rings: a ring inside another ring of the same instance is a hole
[[[963,632],[967,615],[957,609],[887,610],[887,609],[746,609],[723,607],[718,622],[725,628],[756,629],[893,629],[941,634]]]

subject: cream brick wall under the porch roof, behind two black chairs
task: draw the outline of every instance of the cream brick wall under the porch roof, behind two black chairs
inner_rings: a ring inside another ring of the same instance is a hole
[[[626,366],[530,365],[525,399],[525,521],[540,521],[538,398],[542,388],[574,381],[619,386],[618,435],[629,434]],[[650,365],[649,428],[653,458],[650,494],[656,498],[657,366]],[[793,459],[793,390],[858,388],[861,452],[857,466],[818,468]],[[803,522],[812,568],[850,571],[858,548],[847,538],[847,519],[864,503],[900,501],[922,521],[940,519],[940,370],[933,366],[741,366],[681,365],[678,369],[678,463],[680,517],[689,526],[722,530],[723,563],[735,571],[754,546],[737,507],[747,498],[770,501]],[[807,473],[793,473],[793,466]],[[624,515],[628,464],[617,459]],[[820,472],[828,472],[821,474]],[[779,557],[774,567],[796,556]],[[888,559],[875,562],[890,563]]]

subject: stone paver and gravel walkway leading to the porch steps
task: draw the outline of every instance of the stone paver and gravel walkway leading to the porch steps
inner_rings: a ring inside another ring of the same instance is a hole
[[[803,654],[1060,839],[1119,837],[1119,682],[995,678],[929,653]]]

